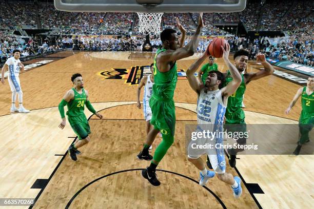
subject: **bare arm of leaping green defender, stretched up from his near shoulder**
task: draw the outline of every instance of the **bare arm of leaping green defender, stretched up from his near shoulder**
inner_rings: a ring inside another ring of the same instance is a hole
[[[185,57],[192,56],[199,45],[199,36],[201,33],[201,30],[204,26],[203,24],[203,18],[202,18],[203,13],[200,13],[200,18],[199,18],[199,25],[197,30],[195,31],[192,39],[190,42],[183,48],[177,49],[177,50],[167,50],[159,55],[159,60],[162,62],[169,62],[169,61],[176,61],[179,59],[183,59]]]

